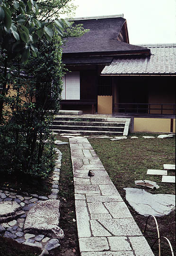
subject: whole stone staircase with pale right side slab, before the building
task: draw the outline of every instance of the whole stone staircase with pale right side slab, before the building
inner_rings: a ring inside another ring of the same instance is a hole
[[[76,118],[55,116],[52,130],[56,133],[127,136],[129,118]]]

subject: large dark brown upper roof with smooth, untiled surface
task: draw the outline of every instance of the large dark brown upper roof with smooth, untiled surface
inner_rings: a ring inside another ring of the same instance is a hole
[[[67,55],[127,54],[131,51],[150,54],[150,51],[144,47],[117,41],[125,21],[121,17],[75,20],[75,24],[83,24],[84,28],[90,30],[82,37],[67,38],[65,45],[62,47],[63,58]]]

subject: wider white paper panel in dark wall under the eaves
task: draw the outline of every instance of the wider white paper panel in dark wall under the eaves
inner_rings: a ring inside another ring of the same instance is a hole
[[[80,100],[80,75],[79,71],[66,74],[66,100]]]

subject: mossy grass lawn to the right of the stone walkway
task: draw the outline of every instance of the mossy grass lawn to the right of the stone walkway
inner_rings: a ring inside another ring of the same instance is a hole
[[[144,139],[142,136],[155,136],[156,138]],[[109,174],[116,189],[121,194],[137,222],[141,232],[145,229],[147,217],[138,214],[125,200],[125,191],[123,188],[143,188],[136,186],[134,181],[147,179],[157,182],[160,188],[152,190],[145,187],[147,192],[153,194],[175,194],[174,183],[161,183],[160,175],[147,175],[147,169],[163,169],[163,164],[175,163],[175,138],[157,138],[157,134],[137,133],[131,136],[137,136],[138,139],[111,141],[110,139],[89,139],[91,146],[96,151],[107,173]],[[175,172],[168,171],[168,175],[175,175]],[[176,250],[175,238],[175,211],[164,217],[157,217],[160,236],[167,237]],[[147,233],[145,235],[150,246],[157,237],[155,222],[150,219],[148,222]],[[161,251],[163,256],[170,256],[170,249],[164,239],[161,241]],[[158,243],[153,247],[155,256],[158,256]]]

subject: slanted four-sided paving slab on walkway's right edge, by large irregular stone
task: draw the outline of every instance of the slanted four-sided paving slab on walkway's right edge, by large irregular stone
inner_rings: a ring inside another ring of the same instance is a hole
[[[124,202],[105,202],[104,204],[114,219],[132,218],[132,214]]]

